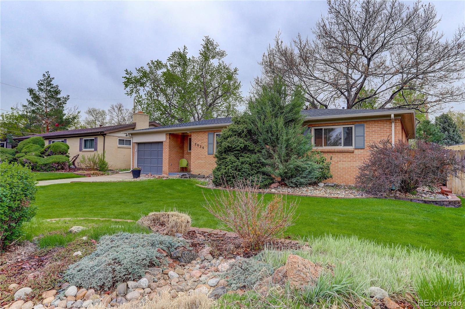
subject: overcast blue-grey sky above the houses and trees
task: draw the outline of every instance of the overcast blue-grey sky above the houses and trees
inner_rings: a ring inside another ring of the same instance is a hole
[[[465,1],[433,1],[449,37],[465,22]],[[286,41],[310,28],[326,1],[307,2],[47,2],[1,1],[0,79],[35,87],[45,71],[69,105],[132,108],[122,84],[125,69],[165,61],[186,45],[197,54],[209,35],[239,69],[243,95],[260,74],[257,62],[278,30]],[[26,103],[27,91],[0,84],[0,108]],[[464,104],[455,104],[464,109]],[[82,115],[81,115],[82,116]]]

